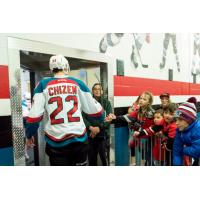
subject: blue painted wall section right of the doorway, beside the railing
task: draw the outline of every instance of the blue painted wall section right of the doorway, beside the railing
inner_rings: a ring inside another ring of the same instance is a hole
[[[115,165],[129,165],[128,126],[115,128]]]

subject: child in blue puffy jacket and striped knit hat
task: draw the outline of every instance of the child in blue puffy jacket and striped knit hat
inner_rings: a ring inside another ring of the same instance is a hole
[[[173,145],[173,164],[183,165],[184,156],[200,158],[200,122],[195,103],[181,104],[175,117],[178,129]]]

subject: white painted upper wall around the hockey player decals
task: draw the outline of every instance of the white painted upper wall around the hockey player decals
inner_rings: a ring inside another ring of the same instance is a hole
[[[31,34],[31,33],[12,33],[1,34],[2,36],[13,36],[23,39],[36,40],[41,42],[48,42],[66,47],[73,47],[78,49],[85,49],[89,51],[99,52],[99,42],[104,34],[102,33],[62,33],[62,34]],[[145,37],[144,33],[139,34],[141,38]],[[192,82],[192,76],[190,73],[191,53],[193,38],[192,34],[177,34],[177,49],[179,54],[179,60],[181,64],[181,72],[177,72],[175,55],[173,54],[172,41],[169,42],[169,47],[166,56],[166,66],[163,70],[160,70],[159,64],[162,60],[163,53],[163,39],[164,33],[152,33],[150,34],[150,44],[144,42],[140,51],[141,58],[145,64],[148,64],[147,69],[139,66],[137,69],[130,62],[130,55],[132,51],[132,44],[134,43],[133,36],[130,33],[124,34],[121,42],[114,46],[108,47],[106,54],[122,59],[125,62],[125,76],[155,78],[168,80],[168,69],[173,67],[173,78],[176,81]],[[1,41],[1,40],[0,40]],[[4,41],[5,43],[5,41]],[[5,45],[4,45],[5,46]],[[115,70],[114,70],[115,71]],[[115,74],[114,74],[115,75]],[[197,82],[200,82],[198,75]]]

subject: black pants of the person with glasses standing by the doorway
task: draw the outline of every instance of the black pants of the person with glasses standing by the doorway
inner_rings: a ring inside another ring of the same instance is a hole
[[[99,154],[102,165],[107,166],[107,147],[104,138],[89,138],[88,160],[90,166],[97,166],[97,156]]]

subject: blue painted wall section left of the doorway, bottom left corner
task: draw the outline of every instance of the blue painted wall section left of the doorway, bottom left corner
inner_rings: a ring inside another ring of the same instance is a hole
[[[13,166],[13,147],[0,148],[0,166]]]

